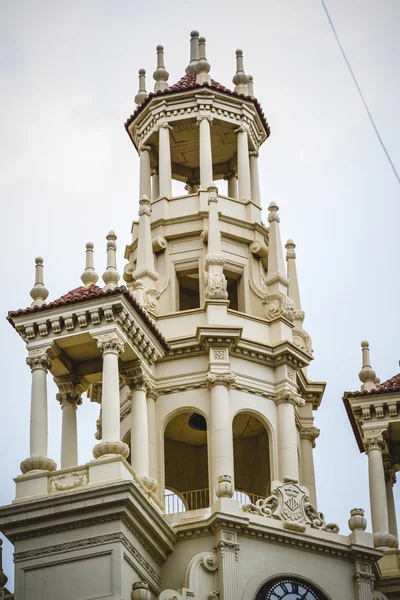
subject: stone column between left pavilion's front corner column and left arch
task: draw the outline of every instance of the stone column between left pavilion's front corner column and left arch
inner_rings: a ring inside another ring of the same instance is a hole
[[[139,361],[124,368],[131,390],[131,465],[148,489],[155,491],[157,482],[149,476],[149,428],[147,416],[147,377]]]

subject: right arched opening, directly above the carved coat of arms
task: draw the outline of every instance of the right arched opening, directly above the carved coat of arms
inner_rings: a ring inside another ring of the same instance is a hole
[[[235,499],[241,505],[269,495],[271,468],[268,433],[263,423],[250,412],[233,419],[233,458]]]

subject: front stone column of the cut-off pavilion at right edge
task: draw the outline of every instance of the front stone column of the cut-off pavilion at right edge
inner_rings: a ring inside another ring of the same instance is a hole
[[[369,497],[375,547],[396,547],[397,540],[389,534],[385,472],[382,452],[385,441],[380,429],[364,432],[364,448],[368,456]]]

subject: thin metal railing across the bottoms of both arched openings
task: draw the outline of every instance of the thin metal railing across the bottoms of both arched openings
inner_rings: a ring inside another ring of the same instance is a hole
[[[233,499],[239,502],[242,507],[244,504],[255,504],[257,500],[264,496],[250,494],[248,492],[235,491]],[[170,490],[165,491],[164,495],[165,514],[173,515],[186,512],[188,510],[198,510],[210,506],[210,494],[208,488],[203,490],[190,490],[188,492],[174,493]]]

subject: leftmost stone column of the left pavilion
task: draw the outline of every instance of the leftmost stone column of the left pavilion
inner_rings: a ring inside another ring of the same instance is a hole
[[[22,461],[22,473],[54,471],[56,463],[47,456],[47,371],[54,358],[51,346],[29,350],[26,364],[32,372],[30,456]]]

